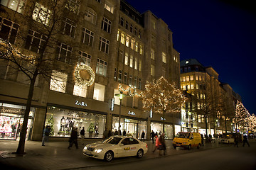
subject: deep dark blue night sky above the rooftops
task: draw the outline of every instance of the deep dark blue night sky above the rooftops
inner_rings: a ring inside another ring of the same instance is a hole
[[[211,66],[219,81],[240,94],[250,113],[255,108],[256,10],[240,0],[127,0],[139,13],[151,11],[173,32],[181,60],[196,58]],[[243,4],[241,4],[241,2]]]

